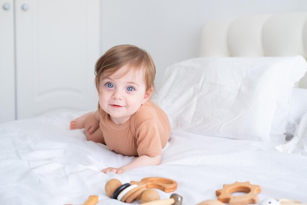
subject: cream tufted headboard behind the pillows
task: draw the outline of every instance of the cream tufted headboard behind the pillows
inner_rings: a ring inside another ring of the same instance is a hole
[[[199,57],[294,55],[307,58],[307,12],[211,20],[202,31]]]

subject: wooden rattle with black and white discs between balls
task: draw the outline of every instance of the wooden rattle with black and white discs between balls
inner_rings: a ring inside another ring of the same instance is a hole
[[[115,178],[106,182],[104,190],[108,197],[127,203],[136,199],[140,199],[142,203],[160,199],[158,192],[153,189],[138,186],[136,183],[122,184],[120,180]]]

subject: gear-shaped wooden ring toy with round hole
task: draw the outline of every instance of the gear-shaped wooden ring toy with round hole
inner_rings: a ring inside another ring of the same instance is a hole
[[[218,200],[229,205],[248,205],[256,204],[259,201],[257,196],[261,189],[259,185],[252,185],[249,181],[234,182],[233,184],[224,184],[223,189],[215,191]],[[230,195],[233,192],[245,192],[242,196]]]

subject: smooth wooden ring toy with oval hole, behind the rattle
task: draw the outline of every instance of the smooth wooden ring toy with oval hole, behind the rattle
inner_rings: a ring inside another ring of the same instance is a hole
[[[177,182],[162,177],[146,177],[142,178],[141,181],[130,181],[130,184],[137,184],[146,188],[160,189],[166,193],[173,192],[177,189]]]

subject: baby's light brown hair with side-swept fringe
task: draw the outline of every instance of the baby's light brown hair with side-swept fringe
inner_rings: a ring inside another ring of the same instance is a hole
[[[125,65],[135,71],[144,69],[146,91],[154,90],[155,65],[152,57],[137,46],[118,45],[110,48],[96,62],[95,83],[98,92],[101,78],[110,76]],[[129,69],[126,72],[128,71]]]

